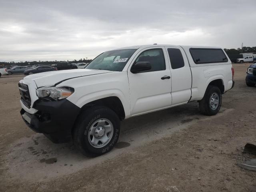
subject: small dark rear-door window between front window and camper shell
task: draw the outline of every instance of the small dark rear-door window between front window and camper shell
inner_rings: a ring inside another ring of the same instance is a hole
[[[168,48],[168,54],[171,62],[172,69],[184,67],[184,60],[179,49]]]

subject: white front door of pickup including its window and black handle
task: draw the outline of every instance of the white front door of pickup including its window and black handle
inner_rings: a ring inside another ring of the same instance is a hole
[[[150,62],[147,72],[133,74],[130,68],[136,62]],[[131,115],[138,115],[172,105],[171,73],[163,47],[141,50],[128,68]]]

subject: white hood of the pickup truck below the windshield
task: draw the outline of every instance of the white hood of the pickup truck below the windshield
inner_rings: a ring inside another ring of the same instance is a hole
[[[25,84],[27,82],[34,81],[37,87],[43,86],[53,86],[65,80],[71,78],[78,78],[82,76],[97,75],[103,73],[111,73],[113,71],[108,70],[91,70],[91,69],[71,69],[71,70],[60,70],[60,71],[50,71],[42,72],[38,74],[32,74],[24,77],[22,82]]]

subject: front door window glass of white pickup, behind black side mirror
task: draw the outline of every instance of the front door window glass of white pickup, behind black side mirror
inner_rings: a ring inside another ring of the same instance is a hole
[[[136,62],[150,62],[151,70],[147,71],[162,71],[166,69],[164,54],[162,49],[150,49],[142,52],[135,60]]]

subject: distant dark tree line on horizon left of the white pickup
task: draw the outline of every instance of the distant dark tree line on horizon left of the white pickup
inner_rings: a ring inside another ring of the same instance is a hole
[[[0,62],[0,66],[10,66],[10,65],[18,65],[18,66],[32,66],[32,65],[53,65],[57,64],[59,62],[69,62],[69,63],[89,63],[91,62],[91,59],[80,59],[80,60],[73,60],[73,61],[25,61],[25,62]]]

